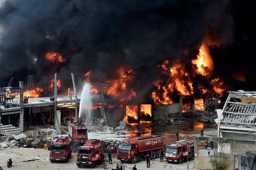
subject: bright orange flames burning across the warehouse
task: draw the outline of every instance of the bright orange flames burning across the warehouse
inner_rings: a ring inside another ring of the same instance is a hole
[[[195,71],[195,74],[200,74],[204,77],[209,78],[212,75],[214,70],[214,64],[212,57],[209,53],[207,41],[203,42],[202,46],[199,49],[199,54],[196,59],[191,60]],[[185,51],[187,55],[188,52]],[[61,54],[49,52],[45,54],[45,58],[52,63],[62,63],[66,60],[61,56]],[[166,60],[161,65],[158,65],[160,69],[162,69],[162,77],[159,77],[158,80],[154,83],[156,87],[154,91],[152,91],[151,97],[154,100],[155,104],[173,104],[175,100],[172,98],[171,94],[175,95],[191,95],[193,94],[193,79],[194,75],[189,73],[185,69],[185,65],[182,63],[182,60],[176,60],[176,63],[173,64]],[[109,84],[111,86],[108,87],[109,94],[113,99],[115,99],[116,104],[109,105],[109,107],[123,107],[127,102],[132,100],[133,97],[136,97],[136,93],[133,88],[127,89],[127,84],[130,81],[134,80],[136,72],[132,70],[129,66],[120,67],[116,70],[116,76],[112,80],[107,80],[103,82],[105,84]],[[87,82],[90,83],[92,71],[88,71],[84,74]],[[216,93],[223,92],[223,81],[220,78],[216,78],[211,80],[212,85],[215,87]],[[46,87],[47,90],[52,90],[54,85],[54,79],[51,80],[50,86]],[[199,84],[200,86],[201,84]],[[61,80],[57,81],[57,90],[61,88]],[[204,87],[202,87],[204,88]],[[204,88],[206,89],[206,88]],[[207,89],[207,91],[212,89]],[[27,97],[40,97],[40,92],[43,89],[40,87],[36,87],[32,90],[28,90],[24,92],[24,96]],[[99,90],[95,91],[95,88],[92,88],[91,94],[97,94]],[[105,91],[106,92],[106,91]],[[69,92],[68,92],[69,93]],[[13,95],[13,94],[12,94]],[[16,95],[16,94],[14,94]],[[203,99],[195,99],[195,109],[201,110],[203,108]],[[96,107],[96,105],[95,105]],[[97,107],[101,107],[98,105]],[[182,111],[186,109],[190,109],[191,105],[184,104],[182,106]],[[137,105],[126,106],[126,117],[124,117],[124,121],[130,122],[130,124],[138,123],[138,119],[140,121],[148,122],[150,121],[150,117],[152,115],[152,105],[151,104],[141,104],[139,107]]]

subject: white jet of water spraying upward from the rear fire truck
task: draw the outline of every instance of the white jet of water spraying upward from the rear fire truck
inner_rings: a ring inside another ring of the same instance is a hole
[[[91,84],[85,83],[81,94],[79,117],[88,123],[91,119],[90,109],[92,109],[92,98],[90,97]]]

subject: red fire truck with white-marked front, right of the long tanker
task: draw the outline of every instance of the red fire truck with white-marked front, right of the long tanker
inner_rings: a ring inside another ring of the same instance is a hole
[[[164,161],[183,163],[195,159],[195,141],[181,140],[165,146]]]

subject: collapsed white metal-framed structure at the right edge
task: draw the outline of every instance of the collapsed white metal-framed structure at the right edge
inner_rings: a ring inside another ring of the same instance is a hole
[[[220,134],[233,139],[256,141],[256,92],[228,93],[220,120]]]

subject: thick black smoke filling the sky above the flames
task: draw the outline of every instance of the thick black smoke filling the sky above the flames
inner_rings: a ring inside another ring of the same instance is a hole
[[[221,78],[226,90],[256,91],[254,9],[242,0],[0,0],[1,87],[11,77],[12,87],[26,86],[28,75],[49,86],[58,73],[72,88],[71,73],[84,81],[89,71],[92,83],[103,83],[124,67],[133,70],[126,88],[148,98],[159,77],[168,79],[158,65],[178,59],[197,90]],[[209,77],[195,75],[191,63],[206,39]],[[64,62],[46,60],[53,52]]]

